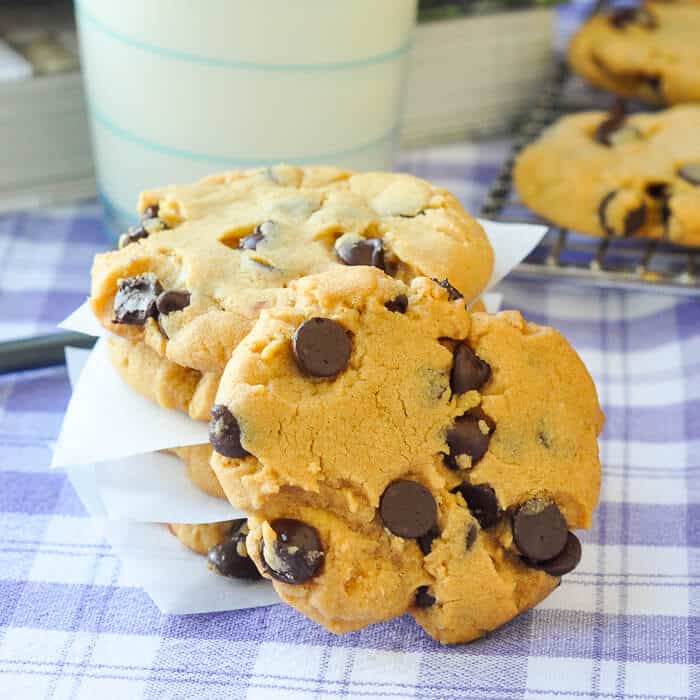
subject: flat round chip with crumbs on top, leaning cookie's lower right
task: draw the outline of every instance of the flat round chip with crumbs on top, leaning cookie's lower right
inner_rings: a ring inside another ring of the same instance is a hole
[[[533,499],[513,515],[513,541],[523,556],[535,562],[558,556],[567,537],[566,520],[555,503]]]

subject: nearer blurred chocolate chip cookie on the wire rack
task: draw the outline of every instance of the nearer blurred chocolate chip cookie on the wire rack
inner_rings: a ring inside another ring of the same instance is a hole
[[[562,117],[518,156],[514,183],[559,226],[700,246],[700,105]]]

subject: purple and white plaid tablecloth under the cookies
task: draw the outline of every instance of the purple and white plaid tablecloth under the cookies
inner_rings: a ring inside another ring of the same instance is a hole
[[[505,144],[405,155],[472,211]],[[88,290],[94,205],[0,218],[0,336],[44,332]],[[334,636],[285,606],[161,615],[124,585],[51,443],[63,367],[0,376],[0,697],[700,697],[700,305],[507,281],[562,330],[607,414],[584,559],[537,609],[442,647],[408,617]]]

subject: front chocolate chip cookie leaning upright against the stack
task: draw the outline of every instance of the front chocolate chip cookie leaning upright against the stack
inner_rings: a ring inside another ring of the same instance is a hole
[[[461,642],[578,563],[602,423],[551,328],[340,268],[292,282],[234,351],[212,466],[284,601],[334,632],[408,611]]]

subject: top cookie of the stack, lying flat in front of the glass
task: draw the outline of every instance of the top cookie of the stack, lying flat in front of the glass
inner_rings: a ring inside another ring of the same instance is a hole
[[[466,298],[493,253],[445,190],[403,174],[278,166],[142,194],[143,220],[95,257],[105,328],[201,373],[220,373],[260,310],[304,275],[372,266],[447,278]]]

